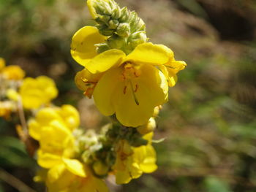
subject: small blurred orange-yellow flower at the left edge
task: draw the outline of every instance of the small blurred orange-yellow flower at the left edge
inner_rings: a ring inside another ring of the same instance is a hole
[[[20,66],[10,65],[1,69],[1,74],[7,80],[22,80],[25,77],[25,72]]]

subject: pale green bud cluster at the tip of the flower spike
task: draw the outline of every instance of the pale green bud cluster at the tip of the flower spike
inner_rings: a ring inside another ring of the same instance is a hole
[[[135,11],[120,8],[113,0],[91,1],[89,9],[94,10],[99,33],[108,37],[105,43],[97,45],[98,53],[115,48],[128,54],[147,41],[145,23]]]

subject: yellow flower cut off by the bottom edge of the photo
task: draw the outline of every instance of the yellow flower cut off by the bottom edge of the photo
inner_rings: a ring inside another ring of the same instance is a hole
[[[83,175],[80,173],[83,172]],[[46,185],[49,192],[108,192],[105,183],[94,177],[89,168],[78,160],[64,161],[48,171]]]

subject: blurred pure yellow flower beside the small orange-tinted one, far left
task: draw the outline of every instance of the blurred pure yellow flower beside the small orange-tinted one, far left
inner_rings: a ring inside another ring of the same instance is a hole
[[[27,77],[23,80],[19,92],[26,109],[37,109],[42,104],[49,104],[58,95],[54,81],[45,76],[36,79]]]

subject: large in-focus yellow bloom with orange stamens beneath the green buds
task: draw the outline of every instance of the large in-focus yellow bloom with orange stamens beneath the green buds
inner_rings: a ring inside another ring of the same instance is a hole
[[[103,115],[116,113],[124,126],[146,124],[154,107],[167,101],[168,84],[176,82],[175,75],[184,69],[185,63],[175,61],[173,51],[168,47],[150,42],[138,45],[129,55],[116,49],[95,55],[97,50],[92,45],[97,40],[97,43],[104,41],[98,37],[97,28],[84,27],[74,35],[71,45],[75,61],[85,66],[84,70],[90,74],[99,75],[93,81],[94,90],[91,90],[95,104]],[[91,75],[80,72],[76,82],[86,91],[86,82],[91,82]]]

